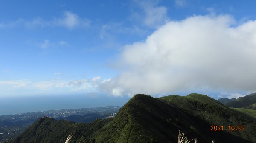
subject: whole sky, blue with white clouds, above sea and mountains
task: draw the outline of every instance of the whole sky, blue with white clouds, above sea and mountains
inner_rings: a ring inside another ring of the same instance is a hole
[[[255,5],[1,0],[0,98],[253,93]]]

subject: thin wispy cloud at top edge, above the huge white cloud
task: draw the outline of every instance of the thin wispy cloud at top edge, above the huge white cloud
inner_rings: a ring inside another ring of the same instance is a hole
[[[143,12],[133,12],[132,17],[139,21],[142,20],[143,25],[156,28],[169,20],[166,15],[167,8],[164,6],[157,6],[158,1],[136,0],[135,2],[140,6]]]

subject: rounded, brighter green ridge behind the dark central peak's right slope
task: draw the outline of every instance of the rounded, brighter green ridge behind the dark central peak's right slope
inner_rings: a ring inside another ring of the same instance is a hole
[[[204,121],[207,121],[211,125],[224,125],[225,128],[228,125],[246,125],[247,128],[243,132],[239,131],[227,131],[233,135],[237,135],[243,138],[251,138],[256,142],[256,121],[252,118],[244,117],[237,112],[229,109],[220,102],[201,94],[190,94],[188,96],[170,95],[163,97],[171,103],[185,112],[188,112]],[[253,137],[252,137],[253,136]]]

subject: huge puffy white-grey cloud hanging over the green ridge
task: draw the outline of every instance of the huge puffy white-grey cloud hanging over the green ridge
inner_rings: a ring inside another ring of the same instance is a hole
[[[256,21],[234,24],[230,15],[170,21],[126,45],[116,63],[123,72],[100,88],[115,95],[255,90]]]

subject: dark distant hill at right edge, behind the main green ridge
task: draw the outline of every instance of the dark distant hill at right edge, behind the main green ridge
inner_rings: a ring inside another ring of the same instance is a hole
[[[252,93],[244,97],[239,97],[235,101],[228,102],[225,105],[233,108],[246,108],[256,110],[256,93]]]

